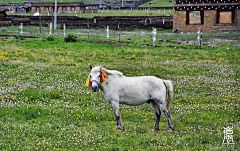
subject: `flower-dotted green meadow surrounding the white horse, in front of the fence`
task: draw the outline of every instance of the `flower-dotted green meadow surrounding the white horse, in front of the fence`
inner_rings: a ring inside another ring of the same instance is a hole
[[[103,40],[118,43],[104,38],[79,38],[77,43],[62,38],[1,40],[0,150],[240,148],[240,49],[234,43],[214,49],[170,47],[172,43],[156,48],[97,44]],[[114,113],[103,94],[99,93],[98,109],[98,94],[84,86],[89,64],[126,76],[172,80],[171,116],[176,130],[168,132],[162,115],[160,131],[152,131],[155,114],[149,104],[121,105],[126,130],[116,130]],[[233,127],[233,145],[223,144],[227,126]]]

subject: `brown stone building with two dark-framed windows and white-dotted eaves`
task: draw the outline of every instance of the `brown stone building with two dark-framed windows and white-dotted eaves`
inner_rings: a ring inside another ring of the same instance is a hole
[[[173,9],[173,27],[181,32],[240,30],[239,0],[175,0]]]

